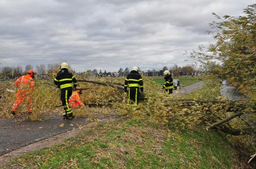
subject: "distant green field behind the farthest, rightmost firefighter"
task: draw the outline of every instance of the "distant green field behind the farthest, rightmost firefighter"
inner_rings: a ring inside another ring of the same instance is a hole
[[[156,83],[163,85],[164,77],[152,77],[153,81]],[[173,77],[173,79],[180,79],[181,87],[189,86],[190,84],[197,83],[200,81],[200,77]]]

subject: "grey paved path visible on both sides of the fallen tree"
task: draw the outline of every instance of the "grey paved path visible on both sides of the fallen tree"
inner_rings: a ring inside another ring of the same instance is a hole
[[[198,82],[174,91],[177,94],[188,94],[203,86]],[[64,123],[64,126],[59,126]],[[74,118],[72,121],[63,120],[62,117],[52,117],[46,121],[12,122],[12,119],[0,119],[0,156],[23,146],[61,134],[88,124],[85,118]]]

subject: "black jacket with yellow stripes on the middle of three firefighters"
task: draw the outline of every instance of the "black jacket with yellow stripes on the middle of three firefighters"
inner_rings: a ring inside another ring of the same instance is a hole
[[[125,90],[127,90],[127,87],[138,87],[143,92],[142,76],[135,70],[132,70],[125,79]]]

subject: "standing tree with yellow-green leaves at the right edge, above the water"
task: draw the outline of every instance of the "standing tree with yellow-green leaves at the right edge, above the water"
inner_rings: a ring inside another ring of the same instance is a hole
[[[255,30],[256,4],[244,10],[245,16],[220,17],[210,25],[216,40],[208,49],[199,46],[199,52],[191,52],[204,66],[204,71],[216,78],[227,79],[242,92],[253,96],[256,84]]]

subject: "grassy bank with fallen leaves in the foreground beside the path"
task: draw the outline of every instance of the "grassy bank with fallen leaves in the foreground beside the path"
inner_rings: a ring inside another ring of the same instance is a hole
[[[101,124],[5,168],[233,168],[235,151],[215,131],[174,131],[145,121]]]

